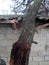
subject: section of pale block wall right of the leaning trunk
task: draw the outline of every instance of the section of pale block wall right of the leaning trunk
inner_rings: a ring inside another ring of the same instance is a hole
[[[49,65],[49,28],[38,30],[34,40],[38,44],[32,44],[29,65]]]

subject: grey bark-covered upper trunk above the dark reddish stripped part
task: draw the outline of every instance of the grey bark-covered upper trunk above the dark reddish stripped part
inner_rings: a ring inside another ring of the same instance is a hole
[[[35,30],[35,27],[36,27],[35,18],[36,18],[38,9],[41,5],[41,2],[42,0],[35,0],[34,4],[29,7],[28,14],[26,16],[27,20],[22,30],[22,33],[19,37],[19,41],[24,39],[25,41],[29,42],[30,45],[31,43],[33,43],[33,37],[36,31]]]

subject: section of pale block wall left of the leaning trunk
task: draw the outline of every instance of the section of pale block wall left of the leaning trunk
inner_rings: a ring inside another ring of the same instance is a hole
[[[7,63],[9,62],[12,44],[17,41],[20,32],[10,27],[0,27],[0,57]]]

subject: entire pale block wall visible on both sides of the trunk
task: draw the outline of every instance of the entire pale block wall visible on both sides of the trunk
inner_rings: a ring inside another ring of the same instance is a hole
[[[20,32],[17,29],[0,28],[0,56],[7,62],[7,65],[9,65],[12,44],[19,38]],[[49,65],[49,28],[38,30],[34,40],[38,44],[32,44],[29,65]]]

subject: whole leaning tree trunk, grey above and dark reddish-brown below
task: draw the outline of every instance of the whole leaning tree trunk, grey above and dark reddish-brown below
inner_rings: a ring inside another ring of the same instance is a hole
[[[19,39],[12,46],[10,65],[28,65],[31,44],[36,43],[33,41],[36,29],[35,18],[41,2],[42,0],[35,0],[34,4],[29,6],[26,24]]]

